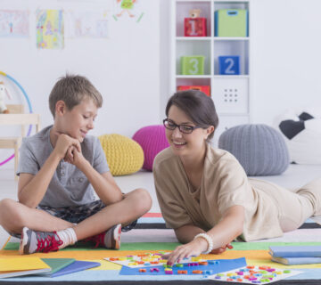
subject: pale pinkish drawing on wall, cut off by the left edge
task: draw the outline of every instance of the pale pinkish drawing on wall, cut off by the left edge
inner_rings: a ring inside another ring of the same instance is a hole
[[[0,37],[29,37],[29,12],[0,10]]]

